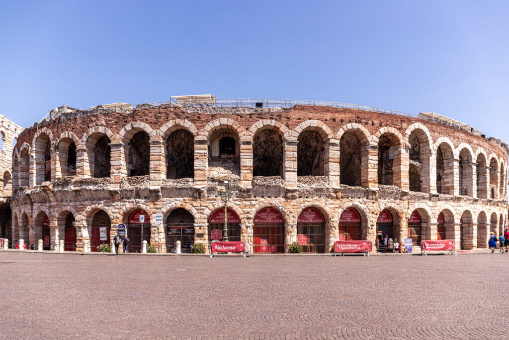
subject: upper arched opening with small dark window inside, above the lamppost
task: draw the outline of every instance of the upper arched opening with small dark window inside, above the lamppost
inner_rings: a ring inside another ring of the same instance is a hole
[[[214,130],[209,135],[208,153],[208,176],[216,179],[231,175],[240,177],[240,143],[234,130],[229,127]]]

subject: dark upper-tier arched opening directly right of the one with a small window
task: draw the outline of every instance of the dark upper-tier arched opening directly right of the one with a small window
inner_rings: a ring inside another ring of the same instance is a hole
[[[253,137],[253,176],[283,177],[283,140],[275,130],[258,130]]]

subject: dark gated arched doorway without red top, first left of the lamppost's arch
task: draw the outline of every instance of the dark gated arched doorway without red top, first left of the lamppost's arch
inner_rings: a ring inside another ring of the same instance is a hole
[[[180,241],[182,253],[190,253],[194,244],[194,217],[184,208],[177,208],[166,217],[166,252],[172,253]]]

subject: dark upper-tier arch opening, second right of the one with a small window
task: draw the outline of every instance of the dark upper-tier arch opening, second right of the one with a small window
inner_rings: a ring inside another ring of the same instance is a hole
[[[297,176],[324,176],[325,143],[320,133],[304,130],[297,141]]]

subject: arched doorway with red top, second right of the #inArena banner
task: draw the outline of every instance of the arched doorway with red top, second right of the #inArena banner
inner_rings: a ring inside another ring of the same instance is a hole
[[[297,240],[299,236],[307,238],[302,245],[303,253],[325,252],[325,219],[316,208],[305,208],[297,218]]]

